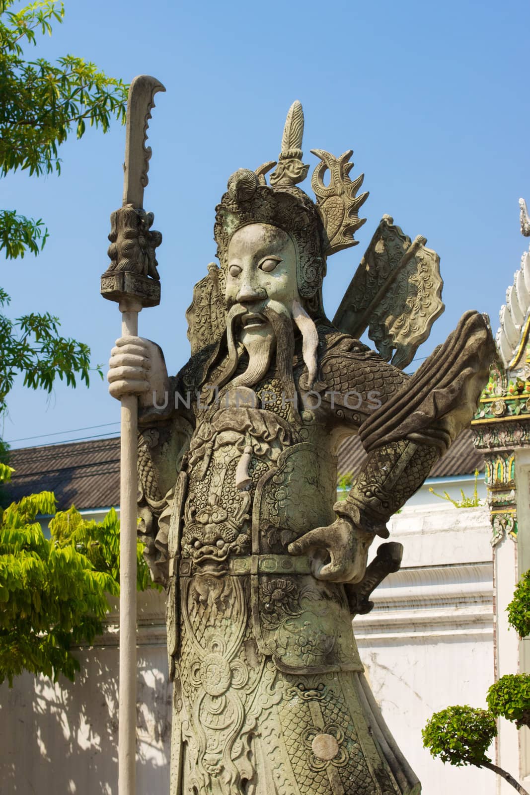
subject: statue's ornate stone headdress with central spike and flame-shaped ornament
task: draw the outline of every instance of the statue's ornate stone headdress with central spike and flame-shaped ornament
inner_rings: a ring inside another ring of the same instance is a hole
[[[311,178],[316,203],[296,185],[308,176],[309,166],[302,162],[304,111],[298,100],[289,108],[281,139],[279,161],[269,161],[255,171],[238,169],[228,180],[227,191],[216,207],[215,240],[222,270],[226,269],[226,251],[234,232],[249,223],[269,223],[288,232],[298,249],[297,281],[300,296],[319,296],[326,273],[326,258],[349,246],[355,246],[354,232],[365,223],[358,209],[368,193],[357,196],[364,175],[350,179],[354,164],[348,151],[339,158],[323,149],[311,149],[320,158]],[[270,176],[265,174],[277,165]],[[323,176],[329,169],[330,183]],[[320,304],[320,301],[318,301]]]

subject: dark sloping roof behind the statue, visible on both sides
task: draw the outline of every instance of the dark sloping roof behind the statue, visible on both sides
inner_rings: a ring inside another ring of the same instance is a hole
[[[119,437],[12,450],[10,466],[15,472],[6,491],[14,500],[53,491],[59,510],[72,504],[78,510],[118,506],[119,455]],[[357,471],[365,458],[358,436],[350,436],[339,450],[339,472]],[[430,477],[472,475],[475,469],[484,471],[484,459],[466,429],[435,463]]]

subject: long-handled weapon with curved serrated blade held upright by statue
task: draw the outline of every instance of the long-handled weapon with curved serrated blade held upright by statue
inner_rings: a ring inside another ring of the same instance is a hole
[[[123,205],[143,208],[151,148],[145,146],[154,95],[165,91],[154,77],[140,75],[127,101]],[[122,336],[137,336],[138,312],[160,303],[160,281],[141,270],[109,270],[103,297],[118,301]],[[136,580],[137,580],[137,411],[136,395],[122,397],[120,450],[120,646],[118,795],[136,795]]]

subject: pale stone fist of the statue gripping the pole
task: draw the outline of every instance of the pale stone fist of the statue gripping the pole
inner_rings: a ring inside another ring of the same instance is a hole
[[[106,376],[112,397],[137,394],[141,407],[164,403],[168,390],[168,371],[161,348],[143,337],[120,337],[110,351],[109,372]]]

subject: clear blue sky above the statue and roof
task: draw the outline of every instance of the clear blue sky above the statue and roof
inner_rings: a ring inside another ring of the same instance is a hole
[[[161,344],[168,369],[188,359],[184,312],[215,258],[215,204],[230,173],[276,159],[285,114],[304,105],[309,149],[354,149],[370,196],[359,245],[328,263],[333,316],[381,215],[441,258],[446,312],[417,356],[427,355],[467,308],[493,330],[528,240],[519,196],[530,200],[527,4],[498,2],[226,2],[66,0],[63,25],[29,56],[67,52],[129,82],[167,88],[149,128],[153,159],[145,209],[164,242],[161,306],[141,312],[140,333]],[[64,335],[106,363],[118,336],[116,304],[99,296],[109,215],[121,203],[125,129],[89,131],[61,149],[60,177],[2,180],[2,206],[43,218],[38,258],[4,264],[10,315],[49,311]],[[302,186],[311,193],[309,180]],[[10,394],[3,427],[13,447],[117,432],[119,408],[98,377],[51,397]],[[106,425],[114,423],[114,425]],[[105,427],[87,429],[88,426]],[[78,430],[79,429],[79,430]],[[70,431],[60,435],[60,432]]]

